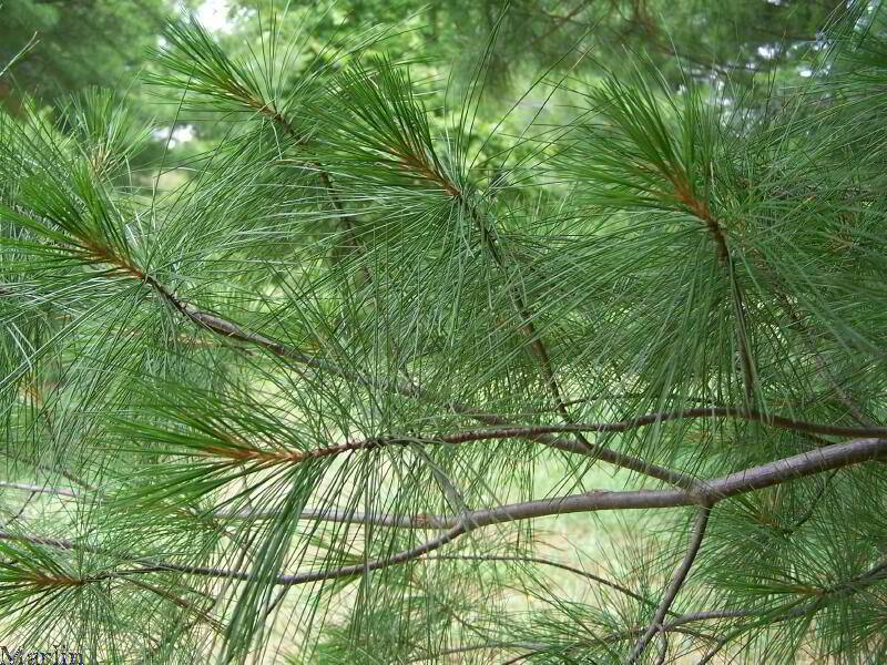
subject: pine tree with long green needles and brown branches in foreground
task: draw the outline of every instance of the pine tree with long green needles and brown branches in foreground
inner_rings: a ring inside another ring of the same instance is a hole
[[[887,11],[763,105],[638,62],[481,141],[489,58],[438,108],[279,25],[169,27],[228,130],[172,192],[111,94],[2,117],[3,644],[883,662]]]

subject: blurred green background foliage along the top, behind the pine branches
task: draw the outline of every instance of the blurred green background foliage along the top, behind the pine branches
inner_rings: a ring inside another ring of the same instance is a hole
[[[0,79],[7,112],[22,104],[47,114],[63,111],[91,86],[129,98],[133,112],[153,123],[152,140],[131,165],[144,174],[174,173],[205,154],[225,133],[220,119],[187,117],[175,99],[140,83],[156,69],[149,52],[163,42],[171,20],[196,17],[228,53],[261,52],[269,21],[302,49],[295,66],[333,61],[337,47],[388,25],[373,51],[409,59],[414,80],[429,90],[460,91],[490,49],[481,117],[493,126],[542,75],[589,79],[604,71],[629,74],[649,60],[675,89],[693,79],[728,90],[743,108],[774,86],[813,74],[818,35],[839,0],[2,0],[0,64],[27,52]],[[503,12],[503,9],[507,10]],[[498,39],[491,33],[498,29]],[[640,57],[640,60],[639,60]],[[345,66],[346,61],[340,65]],[[336,66],[339,65],[337,62]],[[287,72],[295,80],[299,72]],[[432,93],[434,94],[434,93]],[[532,114],[544,91],[520,100]],[[429,100],[434,108],[435,101]],[[550,106],[550,109],[549,109]],[[547,113],[557,109],[548,104]],[[446,114],[437,114],[439,122]],[[519,119],[519,115],[518,115]],[[563,119],[552,119],[563,120]],[[60,121],[63,123],[63,121]]]

